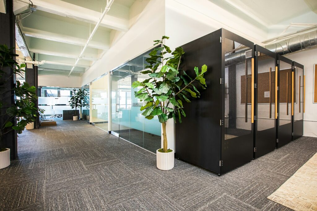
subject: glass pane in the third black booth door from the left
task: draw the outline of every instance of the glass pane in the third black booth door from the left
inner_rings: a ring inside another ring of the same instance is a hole
[[[285,125],[292,121],[292,65],[280,60],[279,73],[279,125]]]

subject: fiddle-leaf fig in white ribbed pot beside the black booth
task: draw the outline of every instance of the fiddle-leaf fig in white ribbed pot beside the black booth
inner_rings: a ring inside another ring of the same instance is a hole
[[[156,151],[157,168],[160,170],[170,170],[174,167],[174,150],[167,147],[166,121],[173,118],[174,121],[181,122],[181,115],[186,116],[183,110],[185,102],[191,102],[189,98],[199,98],[200,93],[197,87],[206,89],[204,73],[207,66],[203,65],[201,71],[195,67],[195,77],[191,78],[185,70],[179,69],[181,57],[184,54],[182,47],[177,47],[173,52],[163,45],[163,40],[169,37],[163,36],[161,40],[154,40],[155,44],[162,44],[163,47],[154,48],[149,53],[146,61],[148,70],[142,74],[148,74],[150,78],[144,81],[135,81],[133,88],[142,87],[134,92],[134,96],[143,101],[141,111],[146,119],[158,116],[163,130],[163,148]],[[171,53],[165,58],[166,53]],[[161,68],[159,68],[161,67]]]

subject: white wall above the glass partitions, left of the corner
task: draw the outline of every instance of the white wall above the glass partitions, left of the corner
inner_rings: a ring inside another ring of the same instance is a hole
[[[138,4],[144,4],[144,2],[148,3],[143,11],[135,15],[138,6],[142,7]],[[110,34],[112,39],[110,49],[84,73],[82,85],[146,52],[153,47],[153,40],[160,39],[165,34],[164,0],[136,1],[134,4],[136,5],[133,5],[130,10],[132,15],[130,21],[133,20],[130,22],[130,29],[125,33],[114,31]]]

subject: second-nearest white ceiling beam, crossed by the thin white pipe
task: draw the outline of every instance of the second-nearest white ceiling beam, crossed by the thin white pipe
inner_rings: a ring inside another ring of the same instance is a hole
[[[34,37],[34,38],[39,38],[39,39],[44,39],[44,40],[51,40],[51,41],[56,41],[56,42],[62,42],[62,43],[68,43],[72,45],[78,45],[78,46],[85,46],[86,41],[85,39],[81,39],[78,37],[71,37],[68,35],[63,35],[63,34],[56,34],[56,33],[51,33],[47,31],[42,31],[34,28],[27,28],[23,27],[22,32],[24,35],[29,36],[29,37]],[[101,42],[96,42],[96,41],[90,41],[88,44],[88,47],[91,48],[97,48],[101,50],[108,50],[109,45]]]

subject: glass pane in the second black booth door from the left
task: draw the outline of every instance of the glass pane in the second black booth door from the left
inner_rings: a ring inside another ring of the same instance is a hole
[[[275,127],[275,59],[259,53],[257,130]]]

